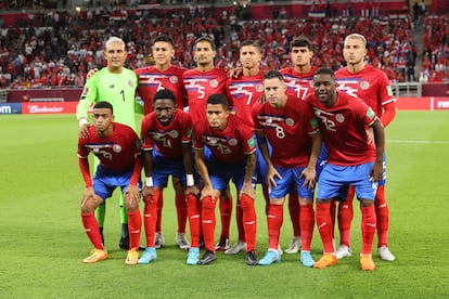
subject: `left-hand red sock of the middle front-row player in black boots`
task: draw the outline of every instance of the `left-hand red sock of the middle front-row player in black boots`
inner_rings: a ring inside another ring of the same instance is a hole
[[[203,236],[206,249],[215,252],[215,226],[217,224],[217,220],[215,218],[215,206],[217,205],[218,198],[213,198],[211,196],[204,197],[201,200],[202,206],[202,226],[203,226]]]

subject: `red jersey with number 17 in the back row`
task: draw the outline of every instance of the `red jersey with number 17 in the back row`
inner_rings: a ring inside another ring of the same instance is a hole
[[[313,94],[313,74],[318,67],[312,66],[309,73],[299,74],[294,67],[287,67],[280,70],[284,76],[284,82],[286,84],[286,93],[298,98],[299,100],[306,100],[309,94]]]

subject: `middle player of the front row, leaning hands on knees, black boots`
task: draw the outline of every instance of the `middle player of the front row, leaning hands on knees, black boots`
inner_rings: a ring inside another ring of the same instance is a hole
[[[253,174],[256,167],[256,144],[249,123],[230,115],[228,99],[223,94],[213,94],[207,99],[207,119],[194,125],[195,161],[204,186],[201,192],[202,226],[206,252],[198,264],[216,260],[215,255],[215,206],[220,192],[227,190],[229,181],[239,190],[242,207],[243,227],[247,243],[246,263],[256,265],[257,218],[254,208]],[[205,160],[204,147],[211,153]]]

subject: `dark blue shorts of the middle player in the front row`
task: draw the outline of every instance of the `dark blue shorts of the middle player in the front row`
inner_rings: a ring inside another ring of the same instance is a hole
[[[207,161],[207,170],[209,172],[213,188],[220,192],[227,190],[230,180],[236,185],[238,190],[242,190],[245,180],[246,161],[239,164],[223,164],[216,160]],[[252,179],[253,187],[256,186],[256,178]]]

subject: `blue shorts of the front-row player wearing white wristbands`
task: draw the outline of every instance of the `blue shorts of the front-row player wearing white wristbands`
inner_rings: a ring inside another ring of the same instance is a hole
[[[153,185],[156,187],[166,187],[168,177],[172,176],[181,180],[185,186],[185,170],[182,158],[172,159],[161,155],[159,152],[153,151]]]

